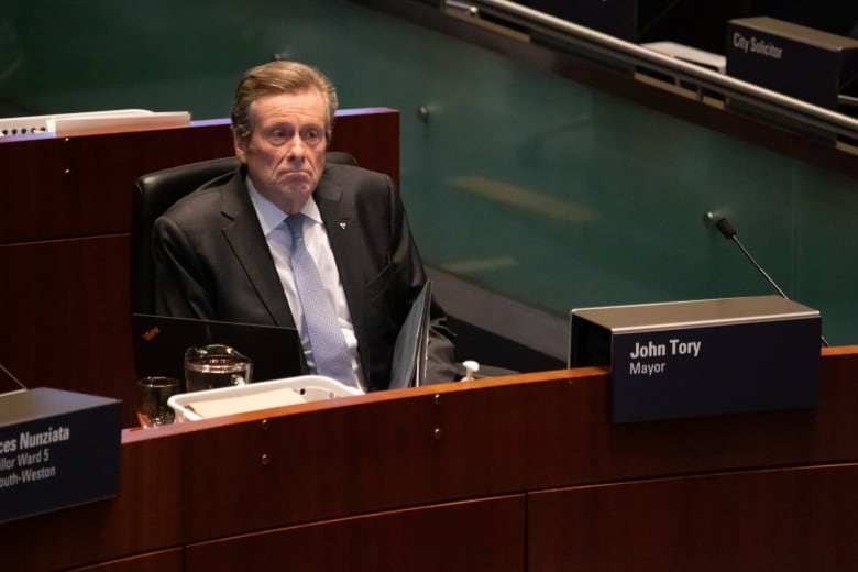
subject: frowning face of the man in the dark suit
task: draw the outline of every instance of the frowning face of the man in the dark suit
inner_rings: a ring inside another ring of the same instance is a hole
[[[233,138],[256,189],[287,213],[298,212],[324,169],[328,108],[317,89],[257,99],[253,133]]]

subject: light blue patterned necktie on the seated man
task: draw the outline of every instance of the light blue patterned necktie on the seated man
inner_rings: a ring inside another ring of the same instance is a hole
[[[300,212],[289,215],[286,227],[292,232],[292,272],[304,310],[304,323],[310,338],[316,373],[354,386],[352,358],[337,312],[324,294],[319,268],[304,244],[304,219],[305,216]]]

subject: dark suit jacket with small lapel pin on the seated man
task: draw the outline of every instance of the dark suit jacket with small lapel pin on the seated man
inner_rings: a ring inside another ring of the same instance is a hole
[[[156,311],[209,320],[295,327],[244,184],[219,177],[155,222]],[[327,165],[314,193],[349,302],[367,389],[391,378],[396,336],[424,283],[399,195],[386,175]],[[453,334],[432,304],[426,383],[455,378]],[[306,364],[305,364],[306,367]]]

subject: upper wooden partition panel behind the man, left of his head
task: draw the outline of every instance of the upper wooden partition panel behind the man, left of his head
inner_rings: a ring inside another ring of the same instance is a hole
[[[226,122],[0,142],[0,244],[129,232],[136,177],[230,154]]]

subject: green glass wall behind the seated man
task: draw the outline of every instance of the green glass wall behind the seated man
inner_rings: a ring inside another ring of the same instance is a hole
[[[178,4],[12,0],[0,100],[220,118],[245,68],[301,59],[334,79],[343,108],[402,111],[403,194],[431,266],[559,317],[771,294],[704,227],[716,210],[822,311],[832,343],[858,343],[851,178],[345,0]]]

